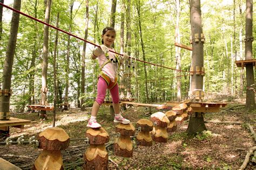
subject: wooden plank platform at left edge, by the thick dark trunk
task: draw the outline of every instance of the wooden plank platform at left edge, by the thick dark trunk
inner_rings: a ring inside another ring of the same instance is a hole
[[[24,128],[24,125],[30,124],[30,120],[10,118],[9,120],[0,120],[0,130],[8,131],[8,127]]]

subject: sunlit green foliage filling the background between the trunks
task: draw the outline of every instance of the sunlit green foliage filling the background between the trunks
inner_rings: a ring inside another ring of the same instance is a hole
[[[73,2],[72,19],[70,19],[70,5]],[[89,28],[87,40],[100,44],[101,33],[105,26],[110,24],[112,1],[89,1]],[[12,6],[13,1],[5,1]],[[126,2],[125,2],[126,3]],[[127,4],[125,4],[127,9]],[[255,6],[255,2],[254,2]],[[117,1],[115,13],[115,26],[117,32],[114,47],[120,51],[120,29],[122,19],[122,2]],[[139,9],[139,10],[138,10]],[[1,62],[0,72],[3,72],[3,61],[6,45],[9,37],[10,20],[12,11],[3,9],[3,33],[1,40]],[[26,0],[22,1],[21,11],[44,21],[44,1]],[[139,11],[139,13],[138,13]],[[50,24],[56,25],[57,13],[59,13],[59,28],[83,38],[85,29],[85,1],[63,1],[52,2]],[[255,13],[255,12],[254,12]],[[138,15],[139,14],[139,15]],[[127,16],[125,15],[125,18]],[[179,35],[180,43],[190,44],[190,6],[188,1],[180,1]],[[253,15],[255,21],[255,15]],[[163,66],[176,68],[177,58],[174,43],[176,42],[176,20],[177,9],[174,1],[131,1],[131,21],[125,20],[125,32],[131,30],[131,57],[143,60],[141,39],[143,39],[145,60]],[[246,92],[245,80],[240,82],[240,68],[234,64],[235,60],[244,60],[245,38],[245,1],[201,1],[201,19],[205,35],[204,44],[204,91],[205,98],[211,100],[220,95],[243,96]],[[142,31],[139,29],[139,22]],[[39,103],[41,99],[41,73],[42,73],[42,50],[43,50],[44,25],[36,23],[25,16],[20,17],[17,46],[15,51],[14,66],[12,69],[11,105],[17,110],[24,109],[30,96],[29,79],[31,73],[35,73],[35,99]],[[48,60],[48,101],[53,103],[53,49],[55,45],[56,30],[49,29],[49,60]],[[253,37],[256,27],[253,26]],[[126,36],[126,33],[125,33]],[[124,38],[124,43],[126,38]],[[93,45],[87,44],[85,53],[85,93],[78,96],[80,82],[81,59],[84,42],[76,38],[70,39],[70,63],[69,63],[69,100],[76,104],[80,97],[85,98],[86,105],[91,105],[96,93],[95,81],[99,70],[97,62],[91,60]],[[59,94],[64,98],[65,91],[65,64],[67,55],[68,35],[59,32],[57,47],[57,76]],[[253,42],[253,51],[256,49]],[[125,48],[125,51],[128,49]],[[31,67],[32,56],[36,55],[35,66]],[[254,58],[255,52],[253,53]],[[190,70],[191,52],[181,49],[181,69]],[[133,67],[125,66],[133,73],[131,77],[132,96],[137,101],[147,103],[145,94],[145,73],[143,63],[136,60],[131,63]],[[96,65],[96,67],[93,67]],[[185,99],[189,91],[190,76],[187,72],[175,72],[150,64],[146,64],[147,86],[152,103],[170,101],[177,99],[177,77],[181,77],[181,97]],[[254,70],[255,75],[255,70]],[[0,76],[2,78],[2,76]],[[2,81],[2,80],[1,80]],[[242,84],[242,86],[241,86]]]

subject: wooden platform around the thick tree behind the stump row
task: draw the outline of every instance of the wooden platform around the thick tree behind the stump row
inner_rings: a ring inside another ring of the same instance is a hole
[[[167,101],[167,106],[177,106],[181,103]],[[192,103],[191,107],[193,108],[194,112],[219,112],[221,107],[226,107],[226,103]]]

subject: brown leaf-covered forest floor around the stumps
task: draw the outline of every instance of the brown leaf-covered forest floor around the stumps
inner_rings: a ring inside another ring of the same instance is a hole
[[[221,101],[223,102],[223,101]],[[133,157],[123,158],[109,151],[110,169],[184,169],[184,168],[211,168],[211,169],[238,169],[244,162],[246,153],[255,146],[254,139],[246,122],[254,127],[256,110],[245,110],[245,106],[238,102],[229,102],[218,113],[206,113],[205,121],[242,121],[241,125],[206,123],[206,133],[188,138],[186,128],[188,120],[177,127],[177,131],[169,134],[166,143],[153,143],[151,147],[136,146],[134,142]],[[63,128],[71,139],[85,138],[86,123],[90,117],[91,108],[80,111],[70,108],[68,111],[57,112],[56,126]],[[157,110],[152,110],[152,113]],[[149,118],[145,107],[127,108],[123,116],[130,119],[135,126],[142,118]],[[39,121],[38,113],[16,113],[12,117],[31,120],[24,129],[10,127],[10,137],[17,140],[24,135],[25,140],[37,136],[52,126],[53,113],[48,112],[48,120]],[[110,118],[109,107],[100,108],[98,122],[109,134],[114,134],[113,120]],[[110,137],[110,142],[116,137]],[[72,140],[68,149],[62,152],[65,169],[82,169],[83,153],[87,144],[84,140]],[[29,169],[37,158],[41,149],[31,145],[0,145],[0,158],[10,161],[22,169]],[[1,168],[0,168],[1,169]],[[250,161],[246,169],[255,169]]]

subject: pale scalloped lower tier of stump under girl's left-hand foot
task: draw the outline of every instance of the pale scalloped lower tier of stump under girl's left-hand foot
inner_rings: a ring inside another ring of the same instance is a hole
[[[90,145],[90,147],[86,150],[86,159],[91,161],[95,159],[98,155],[99,157],[105,158],[107,155],[105,145]]]

